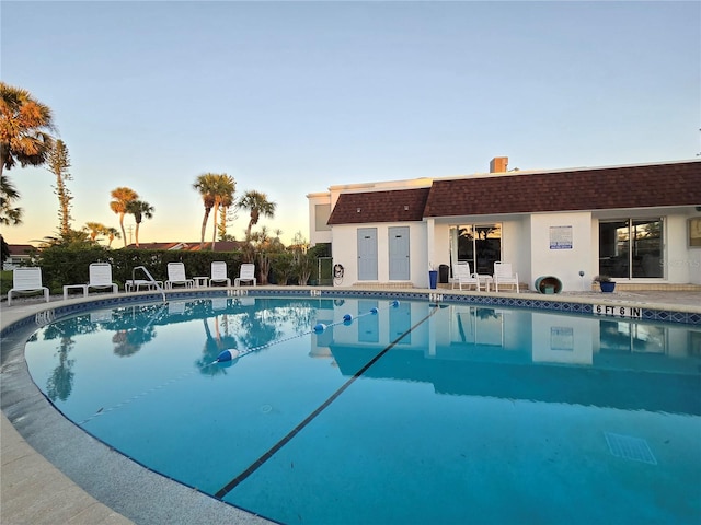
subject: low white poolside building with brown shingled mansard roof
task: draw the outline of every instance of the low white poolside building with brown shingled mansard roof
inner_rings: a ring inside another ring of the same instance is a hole
[[[701,284],[701,161],[506,171],[332,186],[307,196],[311,244],[331,243],[338,285],[428,287],[428,270],[512,262],[522,287]]]

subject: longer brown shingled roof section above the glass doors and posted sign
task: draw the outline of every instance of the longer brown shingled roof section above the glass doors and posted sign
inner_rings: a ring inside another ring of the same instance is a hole
[[[701,162],[690,161],[434,180],[424,217],[699,205]]]

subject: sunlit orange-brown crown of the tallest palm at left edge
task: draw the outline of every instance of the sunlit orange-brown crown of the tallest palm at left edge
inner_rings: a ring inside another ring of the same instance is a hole
[[[0,176],[18,162],[41,166],[46,162],[55,131],[51,109],[21,88],[0,82]]]

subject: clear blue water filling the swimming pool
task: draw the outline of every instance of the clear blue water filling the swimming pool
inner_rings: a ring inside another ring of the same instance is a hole
[[[25,357],[87,432],[286,524],[701,521],[698,327],[217,298],[77,315]]]

